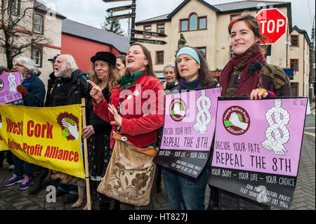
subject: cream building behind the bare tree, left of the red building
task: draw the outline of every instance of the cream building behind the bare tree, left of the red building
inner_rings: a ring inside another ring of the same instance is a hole
[[[48,58],[60,53],[62,20],[65,19],[65,16],[34,0],[14,0],[12,4],[11,7],[13,8],[6,7],[9,8],[13,20],[22,18],[14,27],[15,32],[17,32],[15,35],[16,48],[27,44],[34,35],[40,35],[46,39],[46,41],[34,42],[32,46],[24,48],[20,55],[32,58],[41,72],[39,78],[44,81],[44,84],[47,84],[48,75],[53,70]],[[26,8],[31,9],[26,11]],[[24,12],[27,15],[23,17]],[[1,32],[0,35],[3,33]],[[6,66],[4,49],[2,48],[0,52],[0,65]]]

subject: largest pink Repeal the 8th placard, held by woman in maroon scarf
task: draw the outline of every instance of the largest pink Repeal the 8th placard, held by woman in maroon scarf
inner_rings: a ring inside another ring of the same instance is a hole
[[[290,209],[308,98],[218,98],[210,185]]]

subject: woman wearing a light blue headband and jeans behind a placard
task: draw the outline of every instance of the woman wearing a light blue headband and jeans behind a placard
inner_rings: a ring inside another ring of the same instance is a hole
[[[176,55],[176,76],[179,80],[178,90],[216,86],[202,53],[189,46],[180,48]],[[208,174],[209,169],[206,167],[195,180],[183,173],[162,167],[162,178],[171,209],[204,210]]]

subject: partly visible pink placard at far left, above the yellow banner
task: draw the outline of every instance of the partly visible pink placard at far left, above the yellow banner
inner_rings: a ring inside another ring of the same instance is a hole
[[[23,104],[22,95],[16,90],[21,84],[20,72],[0,75],[0,104]]]

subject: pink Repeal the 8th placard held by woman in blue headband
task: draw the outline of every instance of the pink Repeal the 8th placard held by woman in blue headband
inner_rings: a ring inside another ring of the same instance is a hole
[[[166,95],[159,154],[154,162],[197,178],[209,158],[220,88]]]

